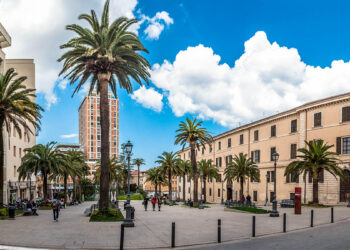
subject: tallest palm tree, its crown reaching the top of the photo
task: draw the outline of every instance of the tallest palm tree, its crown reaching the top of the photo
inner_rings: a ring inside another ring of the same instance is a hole
[[[70,84],[77,84],[73,95],[88,81],[89,94],[97,87],[100,94],[101,117],[101,180],[100,211],[109,205],[109,102],[108,87],[117,96],[117,84],[128,93],[133,91],[130,77],[142,85],[148,84],[150,64],[138,52],[148,52],[135,33],[128,28],[136,19],[121,17],[109,22],[109,0],[106,1],[101,21],[94,10],[91,15],[82,14],[79,19],[88,22],[89,28],[72,24],[66,27],[76,37],[62,45],[67,49],[58,59],[63,61],[60,75],[65,74]]]

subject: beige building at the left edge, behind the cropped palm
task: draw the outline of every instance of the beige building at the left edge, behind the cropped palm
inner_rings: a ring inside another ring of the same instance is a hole
[[[24,84],[27,88],[35,88],[35,64],[33,59],[6,59],[3,49],[11,46],[11,37],[6,32],[5,28],[0,24],[0,74],[3,74],[10,68],[14,68],[18,76],[26,76],[27,80]],[[4,129],[4,186],[3,186],[3,203],[7,204],[13,199],[29,199],[30,191],[32,198],[37,197],[36,182],[34,175],[28,176],[24,181],[18,180],[18,167],[21,164],[21,158],[25,154],[26,148],[36,144],[36,135],[29,134],[19,137],[14,129],[11,133],[7,133]],[[35,132],[35,130],[33,129]],[[31,181],[30,181],[31,180]],[[30,187],[31,183],[31,187]]]

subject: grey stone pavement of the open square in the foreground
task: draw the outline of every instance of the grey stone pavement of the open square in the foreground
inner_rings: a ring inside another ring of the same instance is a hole
[[[122,202],[121,202],[122,203]],[[52,211],[39,211],[38,217],[17,217],[0,221],[0,245],[42,247],[50,249],[116,249],[119,247],[121,222],[89,222],[83,216],[92,203],[61,210],[59,222],[52,221]],[[125,248],[169,248],[171,223],[176,222],[176,246],[215,243],[217,220],[222,220],[222,241],[249,239],[252,214],[227,212],[219,204],[199,210],[178,206],[162,206],[161,212],[144,211],[141,201],[135,206],[135,227],[125,229]],[[294,215],[293,209],[280,209],[287,213],[287,231],[310,226],[310,208],[303,207],[302,215]],[[314,209],[314,225],[330,223],[330,208]],[[335,207],[335,221],[350,218],[350,208]],[[282,216],[270,218],[256,215],[256,235],[268,235],[282,231]]]

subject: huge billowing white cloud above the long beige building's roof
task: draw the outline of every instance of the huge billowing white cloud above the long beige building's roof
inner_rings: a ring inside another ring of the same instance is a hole
[[[167,93],[176,116],[186,113],[235,127],[302,103],[350,91],[350,62],[306,65],[294,48],[257,32],[233,67],[203,45],[180,51],[173,63],[152,68],[152,82]]]

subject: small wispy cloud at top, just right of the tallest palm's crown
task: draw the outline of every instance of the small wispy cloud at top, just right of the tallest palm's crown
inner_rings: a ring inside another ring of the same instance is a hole
[[[170,24],[174,23],[174,20],[166,11],[157,12],[152,18],[145,15],[141,15],[141,17],[141,22],[145,22],[148,25],[144,30],[144,33],[147,35],[148,39],[159,39],[160,34],[164,30],[164,24],[169,26]]]

